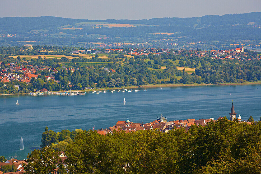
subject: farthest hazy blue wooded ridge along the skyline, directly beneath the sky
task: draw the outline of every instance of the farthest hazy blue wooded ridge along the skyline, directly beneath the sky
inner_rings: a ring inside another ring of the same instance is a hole
[[[88,16],[86,16],[88,18]],[[52,16],[41,17],[7,17],[0,18],[0,30],[9,33],[19,33],[19,31],[31,31],[44,28],[59,28],[66,25],[75,25],[79,22],[111,22],[117,24],[142,24],[159,26],[220,26],[220,25],[246,25],[249,22],[261,25],[261,12],[244,14],[227,14],[223,16],[209,15],[194,18],[153,18],[143,20],[87,20],[69,19]]]

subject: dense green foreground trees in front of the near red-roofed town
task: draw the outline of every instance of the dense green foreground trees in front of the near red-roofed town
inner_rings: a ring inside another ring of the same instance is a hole
[[[54,132],[46,127],[43,148],[31,151],[25,170],[36,173],[41,164],[46,166],[43,173],[49,173],[55,167],[50,160],[58,159],[57,152],[63,150],[72,174],[260,173],[260,135],[261,121],[247,124],[226,117],[167,133],[156,129],[104,136],[92,130]]]

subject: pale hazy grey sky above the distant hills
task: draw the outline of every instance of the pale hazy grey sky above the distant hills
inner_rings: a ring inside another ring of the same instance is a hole
[[[0,0],[0,17],[182,18],[248,13],[261,11],[260,7],[261,0]]]

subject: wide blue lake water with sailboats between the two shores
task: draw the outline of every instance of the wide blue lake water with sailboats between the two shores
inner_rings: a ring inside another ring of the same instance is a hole
[[[102,90],[103,91],[103,90]],[[231,95],[229,95],[231,93]],[[123,99],[126,97],[124,105]],[[20,105],[16,105],[16,100]],[[167,120],[209,119],[229,116],[232,100],[237,116],[261,116],[261,85],[193,86],[141,89],[139,92],[108,92],[61,95],[0,96],[0,156],[27,158],[49,130],[95,129],[114,126],[129,117],[134,123],[154,121],[161,113]],[[25,150],[19,150],[23,137]]]

